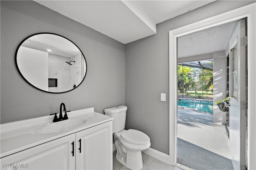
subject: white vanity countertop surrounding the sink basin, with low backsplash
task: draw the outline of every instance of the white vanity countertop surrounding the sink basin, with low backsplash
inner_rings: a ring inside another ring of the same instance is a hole
[[[70,131],[56,133],[37,133],[36,129],[52,123],[54,115],[38,117],[23,121],[4,123],[0,125],[0,157],[14,154],[24,149],[58,139],[60,137],[88,129],[90,127],[113,120],[113,117],[94,112],[94,107],[70,111],[68,118],[86,119],[86,123]],[[59,117],[59,114],[57,114]],[[63,114],[64,116],[64,114]],[[65,121],[65,120],[64,120]]]

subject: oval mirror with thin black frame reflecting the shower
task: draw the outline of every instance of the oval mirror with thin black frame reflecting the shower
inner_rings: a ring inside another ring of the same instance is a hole
[[[37,33],[24,39],[16,50],[15,62],[26,82],[50,93],[78,87],[87,70],[82,51],[54,33]]]

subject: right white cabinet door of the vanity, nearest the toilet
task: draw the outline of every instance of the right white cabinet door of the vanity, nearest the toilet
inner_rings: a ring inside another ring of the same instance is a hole
[[[112,131],[112,121],[109,121],[76,133],[77,170],[112,169]]]

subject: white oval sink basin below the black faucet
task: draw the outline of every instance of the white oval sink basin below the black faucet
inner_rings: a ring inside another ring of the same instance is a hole
[[[67,119],[58,122],[52,122],[47,124],[46,126],[40,127],[35,131],[36,133],[58,133],[69,131],[84,125],[86,123],[86,119]]]

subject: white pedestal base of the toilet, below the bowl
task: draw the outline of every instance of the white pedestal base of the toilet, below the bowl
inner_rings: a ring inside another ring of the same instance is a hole
[[[130,152],[127,150],[126,158],[116,153],[116,159],[118,162],[126,166],[131,170],[140,170],[143,168],[142,154],[140,152]]]

